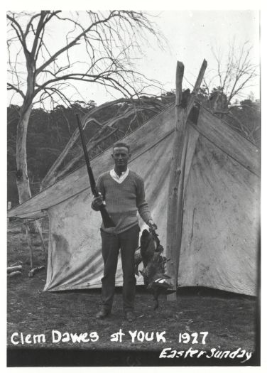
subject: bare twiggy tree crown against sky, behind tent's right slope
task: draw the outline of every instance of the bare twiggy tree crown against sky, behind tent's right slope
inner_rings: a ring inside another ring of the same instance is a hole
[[[255,85],[258,66],[253,62],[252,46],[246,42],[236,47],[233,40],[229,45],[226,58],[219,48],[216,50],[212,48],[212,53],[216,68],[205,77],[204,87],[209,98],[225,97],[224,106],[228,106],[233,99],[241,97],[244,90]]]

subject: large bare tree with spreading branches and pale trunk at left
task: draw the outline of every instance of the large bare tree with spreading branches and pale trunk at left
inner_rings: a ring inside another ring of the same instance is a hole
[[[69,90],[72,87],[74,92],[77,80],[119,90],[124,97],[138,97],[158,82],[136,72],[133,53],[141,52],[147,34],[155,36],[158,43],[163,38],[149,15],[141,11],[9,11],[7,19],[8,90],[22,102],[16,137],[16,182],[21,203],[31,197],[26,136],[33,105],[70,104]],[[58,49],[57,33],[54,42],[50,38],[55,26],[67,29]],[[86,60],[82,60],[85,52]]]

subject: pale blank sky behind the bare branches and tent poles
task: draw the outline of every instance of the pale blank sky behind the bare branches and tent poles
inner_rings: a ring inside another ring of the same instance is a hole
[[[136,70],[146,77],[160,81],[162,90],[150,90],[151,94],[160,94],[175,88],[175,69],[177,60],[185,65],[183,88],[194,85],[200,70],[202,60],[207,60],[205,77],[207,81],[214,76],[216,63],[213,50],[219,50],[222,54],[222,62],[229,53],[229,46],[234,40],[236,50],[248,42],[251,45],[251,60],[259,65],[259,12],[246,10],[173,10],[173,11],[148,11],[153,16],[167,43],[164,49],[160,49],[156,40],[148,36],[148,43],[143,43],[141,49],[143,55],[136,55]],[[64,26],[63,26],[64,27]],[[50,28],[50,43],[54,50],[62,47],[61,35],[68,31],[60,28],[55,23]],[[55,37],[57,36],[57,37]],[[79,58],[83,56],[83,50],[79,50]],[[238,52],[236,52],[238,53]],[[216,72],[215,72],[216,73]],[[253,92],[254,98],[259,98],[259,77],[252,82],[253,86],[244,90],[242,97],[247,98]],[[215,82],[214,82],[215,85]],[[111,101],[121,97],[119,92],[110,94],[104,87],[92,85],[87,82],[75,82],[75,87],[80,92],[85,102],[94,100],[97,104]],[[67,91],[66,91],[67,92]],[[68,92],[72,99],[80,99],[72,91]],[[9,93],[8,104],[11,93]],[[13,101],[19,104],[19,97]]]

